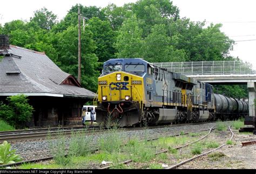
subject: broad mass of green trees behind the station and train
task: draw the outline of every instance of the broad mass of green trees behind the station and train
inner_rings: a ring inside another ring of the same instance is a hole
[[[178,7],[169,0],[109,4],[103,9],[75,4],[60,21],[42,8],[30,21],[13,20],[0,26],[0,31],[9,35],[10,44],[45,52],[60,69],[77,77],[78,5],[86,24],[81,84],[93,92],[102,62],[116,57],[149,62],[235,60],[228,54],[234,42],[220,31],[221,24],[180,18]],[[230,95],[245,97],[246,89],[231,88]]]

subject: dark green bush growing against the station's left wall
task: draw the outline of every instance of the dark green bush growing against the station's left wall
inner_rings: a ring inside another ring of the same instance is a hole
[[[0,118],[15,127],[24,127],[32,117],[33,107],[25,95],[7,97],[8,105],[0,103]]]

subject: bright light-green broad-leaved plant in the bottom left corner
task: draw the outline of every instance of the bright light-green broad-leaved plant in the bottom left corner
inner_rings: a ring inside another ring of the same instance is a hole
[[[22,160],[21,156],[16,155],[16,150],[11,150],[11,144],[4,141],[0,144],[0,164],[11,164]]]

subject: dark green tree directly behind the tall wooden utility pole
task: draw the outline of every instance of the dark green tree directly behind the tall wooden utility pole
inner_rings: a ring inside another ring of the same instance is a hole
[[[70,26],[67,30],[57,34],[58,45],[58,62],[59,67],[75,77],[77,77],[78,69],[78,27]],[[97,78],[99,73],[97,69],[98,57],[95,54],[96,44],[92,39],[92,32],[89,27],[86,26],[85,32],[81,34],[81,45],[82,45],[82,86],[86,89],[97,91]]]

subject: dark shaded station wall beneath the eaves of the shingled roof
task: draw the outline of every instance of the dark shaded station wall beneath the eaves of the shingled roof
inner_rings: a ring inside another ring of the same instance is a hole
[[[6,97],[0,97],[5,102]],[[88,101],[80,98],[29,96],[34,112],[28,126],[82,125],[82,108]]]

